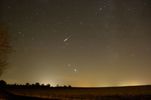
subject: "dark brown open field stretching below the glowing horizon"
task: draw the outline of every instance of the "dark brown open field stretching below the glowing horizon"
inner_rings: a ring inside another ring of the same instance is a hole
[[[151,100],[151,86],[108,88],[7,88],[0,100]]]

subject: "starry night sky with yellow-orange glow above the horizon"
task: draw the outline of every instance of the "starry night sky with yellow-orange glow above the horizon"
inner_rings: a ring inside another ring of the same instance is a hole
[[[151,0],[1,0],[13,52],[1,79],[151,84]]]

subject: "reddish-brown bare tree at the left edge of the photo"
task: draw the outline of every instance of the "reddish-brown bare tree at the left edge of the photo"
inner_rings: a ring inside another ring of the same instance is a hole
[[[6,65],[8,63],[8,54],[11,48],[9,44],[8,32],[2,25],[0,25],[0,76],[2,75]]]

